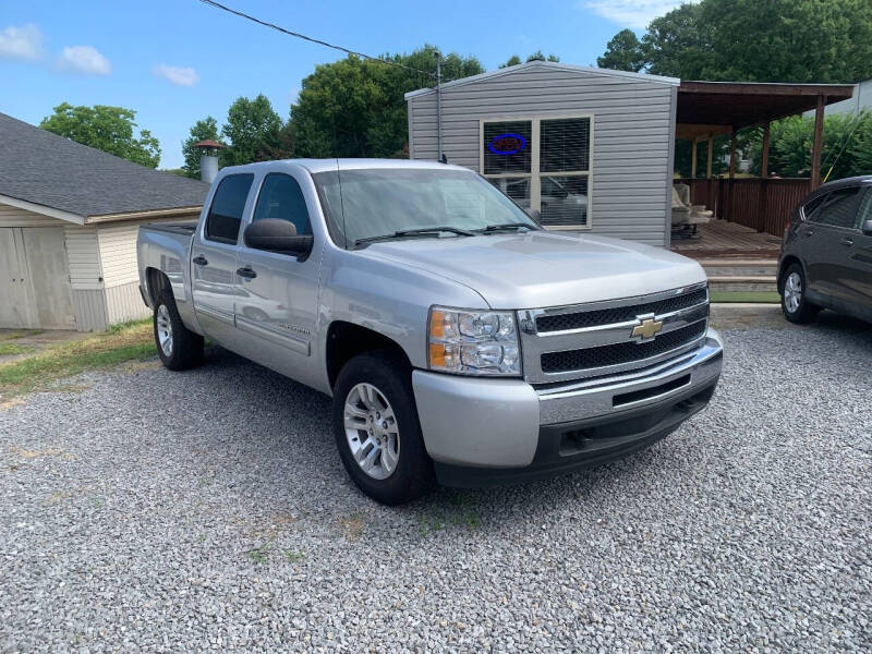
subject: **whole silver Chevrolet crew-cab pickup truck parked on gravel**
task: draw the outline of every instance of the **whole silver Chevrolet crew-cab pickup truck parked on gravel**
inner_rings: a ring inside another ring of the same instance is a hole
[[[332,396],[342,462],[386,504],[638,451],[720,375],[695,262],[547,232],[456,166],[226,168],[198,222],[142,227],[137,254],[164,364],[207,336]]]

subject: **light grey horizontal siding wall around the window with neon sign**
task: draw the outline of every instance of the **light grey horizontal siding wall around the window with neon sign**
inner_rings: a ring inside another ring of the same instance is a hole
[[[675,86],[640,77],[531,66],[443,90],[443,150],[479,170],[479,121],[594,114],[591,231],[652,245],[668,242]],[[436,159],[436,95],[409,99],[410,148]]]

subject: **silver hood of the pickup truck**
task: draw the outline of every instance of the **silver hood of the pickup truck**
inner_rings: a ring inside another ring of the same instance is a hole
[[[376,242],[360,251],[468,286],[492,308],[542,308],[705,281],[693,259],[605,237],[528,232]]]

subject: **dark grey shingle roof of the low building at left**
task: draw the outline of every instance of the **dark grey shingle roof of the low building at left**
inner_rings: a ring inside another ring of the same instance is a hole
[[[0,201],[73,222],[197,209],[209,185],[0,113]],[[43,209],[43,210],[40,210]]]

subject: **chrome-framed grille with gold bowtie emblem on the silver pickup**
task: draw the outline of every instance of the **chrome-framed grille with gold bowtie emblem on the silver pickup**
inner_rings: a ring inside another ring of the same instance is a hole
[[[521,311],[518,318],[529,383],[598,377],[655,365],[702,346],[708,290],[703,282],[651,295]],[[662,323],[653,335],[646,329],[652,323]]]

